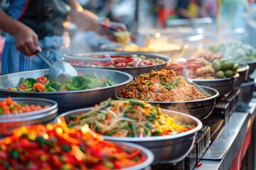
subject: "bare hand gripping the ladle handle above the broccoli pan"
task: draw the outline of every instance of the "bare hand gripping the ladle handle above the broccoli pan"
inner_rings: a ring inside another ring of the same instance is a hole
[[[38,35],[28,26],[21,23],[19,31],[14,34],[15,44],[18,50],[25,55],[31,56],[36,53],[36,50],[41,48],[38,44]]]

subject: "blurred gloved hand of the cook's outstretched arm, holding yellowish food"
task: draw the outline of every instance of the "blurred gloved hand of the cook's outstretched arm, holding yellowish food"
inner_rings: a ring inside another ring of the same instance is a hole
[[[120,42],[126,45],[129,42],[129,32],[123,23],[102,22],[98,23],[97,33],[105,35],[108,39],[114,42]]]

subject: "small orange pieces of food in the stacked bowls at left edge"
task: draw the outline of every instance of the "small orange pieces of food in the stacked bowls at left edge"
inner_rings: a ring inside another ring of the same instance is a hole
[[[40,106],[38,104],[17,103],[11,97],[0,101],[0,115],[9,115],[16,113],[28,113],[31,111],[40,111],[49,108],[49,106]]]

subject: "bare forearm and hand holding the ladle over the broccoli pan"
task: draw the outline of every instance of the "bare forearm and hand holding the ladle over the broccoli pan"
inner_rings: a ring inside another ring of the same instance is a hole
[[[19,21],[15,21],[0,9],[0,29],[15,38],[16,47],[25,55],[33,55],[39,49],[38,35]]]

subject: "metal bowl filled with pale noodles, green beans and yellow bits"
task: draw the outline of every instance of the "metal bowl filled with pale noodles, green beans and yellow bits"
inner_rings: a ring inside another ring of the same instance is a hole
[[[58,115],[58,123],[69,128],[90,129],[105,140],[133,142],[154,153],[153,164],[176,163],[186,157],[202,123],[185,113],[161,109],[144,101],[102,101],[94,108],[82,108]]]

